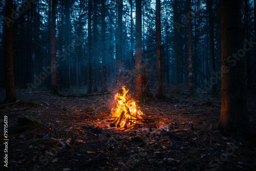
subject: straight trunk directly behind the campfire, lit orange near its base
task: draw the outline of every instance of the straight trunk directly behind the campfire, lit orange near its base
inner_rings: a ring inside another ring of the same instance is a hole
[[[137,100],[142,100],[142,65],[141,65],[141,0],[136,0],[136,23],[135,23],[135,32],[136,32],[136,60],[135,60],[135,98]]]

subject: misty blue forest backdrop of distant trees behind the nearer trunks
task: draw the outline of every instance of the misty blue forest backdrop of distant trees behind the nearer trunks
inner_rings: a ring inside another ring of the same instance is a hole
[[[33,88],[50,89],[52,1],[13,3],[13,11],[20,13],[12,22],[15,87],[30,91]],[[190,7],[188,3],[191,3]],[[155,7],[155,1],[142,1],[142,67],[151,90],[156,89],[157,82]],[[253,1],[242,1],[241,9],[244,43],[246,39],[254,41]],[[4,11],[4,1],[1,1],[1,35],[4,34]],[[57,84],[60,91],[87,86],[89,72],[94,91],[100,91],[103,82],[108,83],[109,88],[114,86],[119,72],[125,72],[130,80],[133,79],[135,11],[133,0],[104,3],[96,0],[91,4],[82,0],[56,1]],[[191,45],[195,93],[215,94],[220,90],[220,18],[219,1],[161,1],[161,80],[164,88],[188,86],[188,45]],[[191,42],[188,42],[189,27]],[[0,48],[0,87],[5,88],[3,36]],[[255,88],[255,52],[256,47],[252,45],[244,55],[248,89]],[[230,58],[230,62],[235,64],[236,58]],[[84,90],[86,93],[88,89]]]

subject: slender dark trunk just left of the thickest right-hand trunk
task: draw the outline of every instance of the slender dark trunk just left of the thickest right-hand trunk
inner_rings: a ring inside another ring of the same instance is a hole
[[[207,1],[207,9],[209,16],[209,56],[210,56],[210,77],[216,77],[216,65],[214,55],[214,17],[212,16],[212,2]],[[217,91],[217,82],[211,85],[211,94],[215,94]]]

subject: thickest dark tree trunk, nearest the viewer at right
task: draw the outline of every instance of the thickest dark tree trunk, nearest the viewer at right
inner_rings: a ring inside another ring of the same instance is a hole
[[[218,126],[225,135],[246,133],[247,115],[245,91],[245,59],[236,65],[228,62],[228,56],[242,49],[241,1],[221,1],[221,114]]]

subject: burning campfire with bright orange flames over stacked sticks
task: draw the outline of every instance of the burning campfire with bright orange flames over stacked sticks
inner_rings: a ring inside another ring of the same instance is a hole
[[[116,108],[112,110],[113,117],[117,119],[111,124],[117,130],[134,129],[143,124],[143,113],[137,109],[136,102],[130,98],[128,89],[122,88],[122,94],[117,93],[115,100],[117,100]]]

